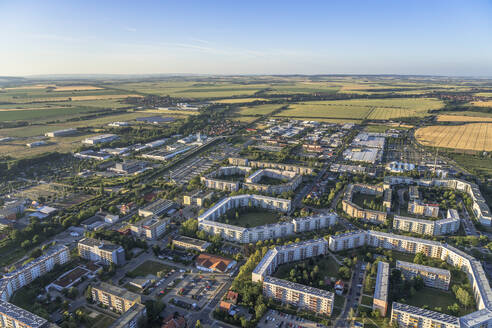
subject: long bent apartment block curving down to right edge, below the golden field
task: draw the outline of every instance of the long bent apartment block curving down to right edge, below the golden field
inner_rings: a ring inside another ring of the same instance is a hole
[[[473,214],[477,217],[481,224],[492,225],[492,214],[490,208],[483,198],[480,188],[472,182],[460,179],[413,179],[408,177],[388,176],[384,178],[384,187],[391,188],[395,184],[417,184],[421,186],[438,186],[450,188],[467,193],[473,201]]]

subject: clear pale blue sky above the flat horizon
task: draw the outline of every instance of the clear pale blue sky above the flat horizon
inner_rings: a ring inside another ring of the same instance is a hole
[[[0,75],[492,76],[492,1],[0,0]]]

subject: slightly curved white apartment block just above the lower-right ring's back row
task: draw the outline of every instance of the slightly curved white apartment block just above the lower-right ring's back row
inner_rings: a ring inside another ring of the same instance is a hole
[[[454,233],[458,231],[459,227],[459,216],[457,218],[450,217],[440,220],[425,220],[395,215],[393,219],[393,229],[427,236],[441,236]]]

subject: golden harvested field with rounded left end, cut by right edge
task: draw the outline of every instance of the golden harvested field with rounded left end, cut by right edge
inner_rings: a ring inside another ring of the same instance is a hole
[[[426,146],[491,151],[492,123],[426,126],[415,132],[415,138]]]

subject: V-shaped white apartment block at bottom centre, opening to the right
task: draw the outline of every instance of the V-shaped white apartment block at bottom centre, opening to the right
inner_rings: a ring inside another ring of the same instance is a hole
[[[268,250],[261,259],[253,270],[251,279],[262,283],[266,297],[329,316],[333,311],[335,294],[270,276],[280,264],[323,255],[327,250],[328,243],[325,239],[275,247]]]

